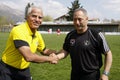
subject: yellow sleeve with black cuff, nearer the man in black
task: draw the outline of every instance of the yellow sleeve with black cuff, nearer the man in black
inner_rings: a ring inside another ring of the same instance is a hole
[[[46,49],[46,46],[45,46],[44,40],[43,40],[41,34],[39,33],[38,34],[38,47],[37,47],[37,50],[39,52],[43,52],[45,49]]]

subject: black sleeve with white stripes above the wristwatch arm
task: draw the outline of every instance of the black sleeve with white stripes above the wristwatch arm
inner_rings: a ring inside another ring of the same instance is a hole
[[[108,52],[110,50],[110,48],[109,48],[109,45],[105,39],[105,36],[101,32],[99,33],[99,36],[101,38],[101,41],[100,41],[101,51],[102,51],[102,53],[105,54],[106,52]]]

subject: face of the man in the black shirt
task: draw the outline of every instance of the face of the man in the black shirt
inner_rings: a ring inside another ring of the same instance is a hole
[[[78,33],[83,33],[87,30],[88,17],[82,11],[74,13],[73,22]]]

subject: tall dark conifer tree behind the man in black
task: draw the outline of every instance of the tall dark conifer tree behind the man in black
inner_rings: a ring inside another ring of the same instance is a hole
[[[75,9],[83,8],[83,6],[81,6],[81,4],[79,3],[79,0],[75,0],[74,2],[71,2],[71,4],[72,4],[72,7],[71,8],[68,7],[69,12],[67,13],[68,16],[66,16],[67,21],[73,20],[73,12]]]

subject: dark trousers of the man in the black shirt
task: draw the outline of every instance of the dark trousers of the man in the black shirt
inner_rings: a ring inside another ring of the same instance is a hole
[[[99,80],[100,79],[100,71],[94,71],[88,74],[71,74],[71,80]]]

